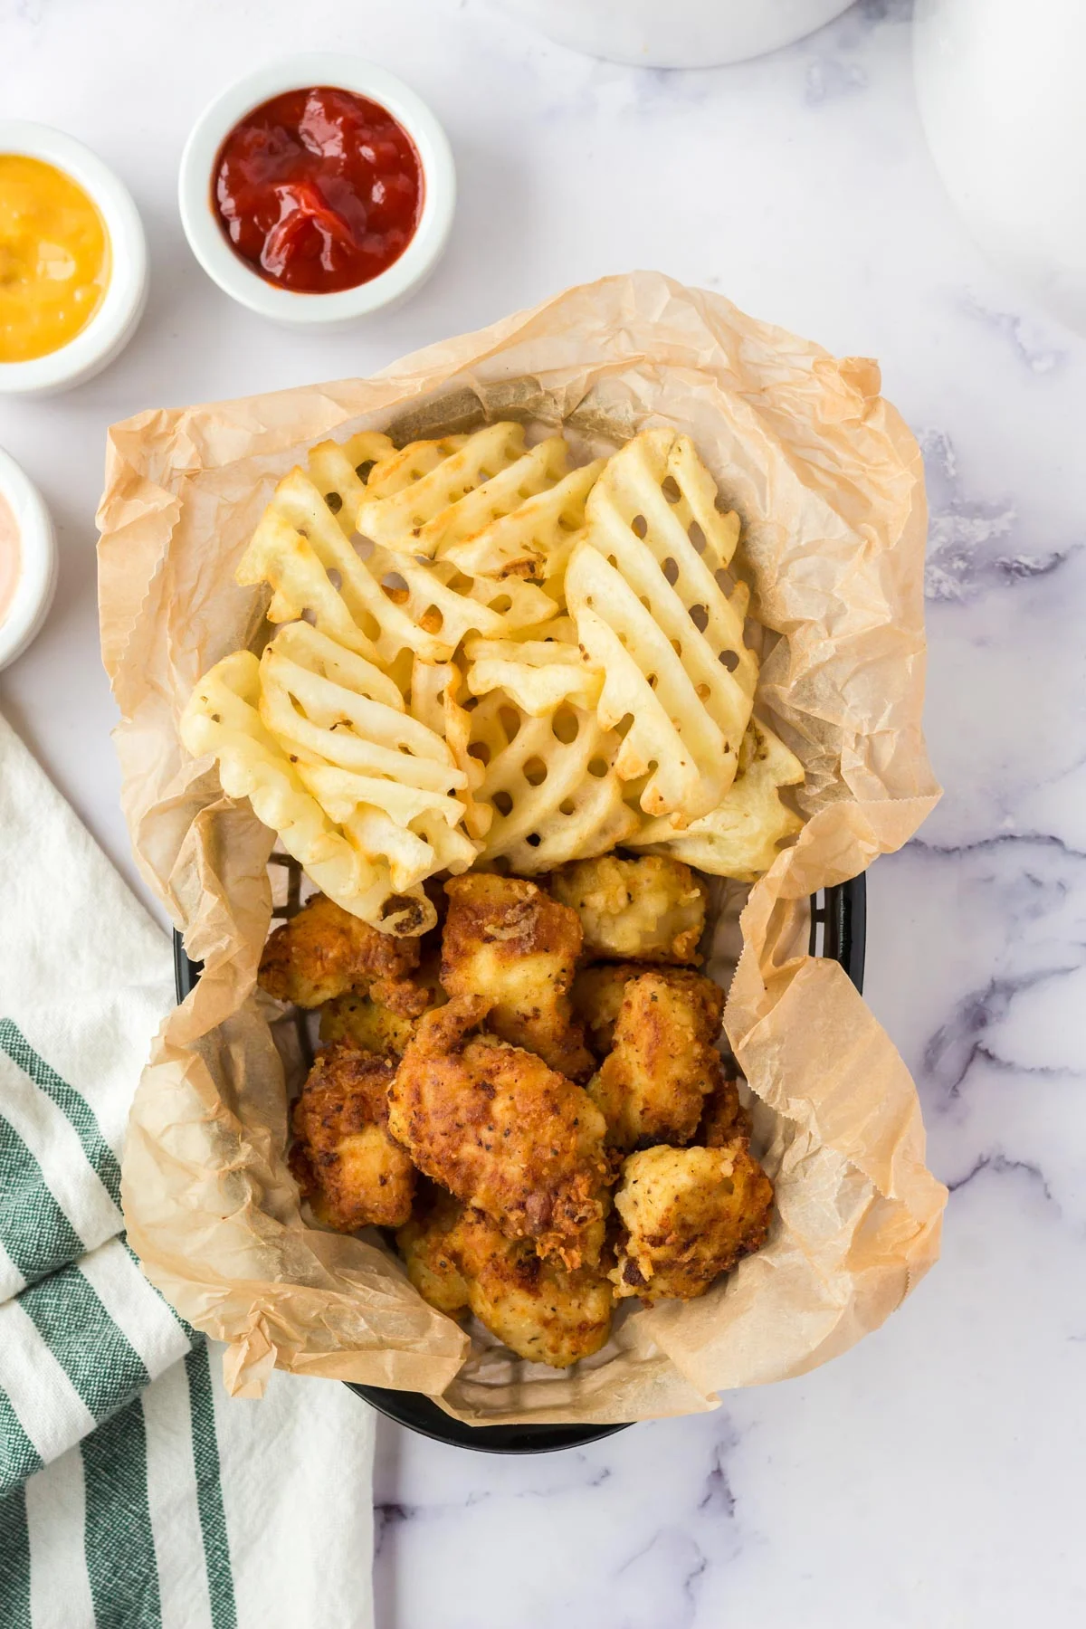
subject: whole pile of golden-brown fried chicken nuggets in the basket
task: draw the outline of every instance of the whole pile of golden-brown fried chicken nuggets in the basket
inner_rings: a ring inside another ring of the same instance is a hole
[[[431,1306],[567,1368],[615,1302],[703,1295],[767,1235],[705,883],[612,854],[431,898],[422,938],[324,896],[269,938],[262,987],[321,1008],[291,1170],[316,1223],[394,1228]]]

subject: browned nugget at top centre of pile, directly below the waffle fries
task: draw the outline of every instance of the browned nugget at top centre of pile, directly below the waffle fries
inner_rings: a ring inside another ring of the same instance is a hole
[[[570,986],[581,951],[576,912],[536,883],[485,872],[444,885],[441,984],[449,995],[487,995],[487,1025],[560,1075],[585,1080],[593,1057],[573,1020]]]

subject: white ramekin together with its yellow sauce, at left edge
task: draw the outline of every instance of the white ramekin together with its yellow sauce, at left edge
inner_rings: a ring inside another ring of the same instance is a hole
[[[62,130],[0,119],[0,394],[91,378],[145,303],[147,239],[127,187]]]

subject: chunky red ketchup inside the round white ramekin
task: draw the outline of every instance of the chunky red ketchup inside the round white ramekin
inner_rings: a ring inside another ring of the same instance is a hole
[[[296,293],[339,293],[384,272],[414,238],[422,199],[407,130],[327,85],[254,108],[215,161],[215,210],[234,254]]]

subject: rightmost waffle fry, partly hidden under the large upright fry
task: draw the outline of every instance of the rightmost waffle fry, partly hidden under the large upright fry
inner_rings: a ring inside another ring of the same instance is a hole
[[[650,819],[627,847],[668,854],[708,872],[752,883],[767,872],[785,839],[803,821],[780,798],[782,787],[803,782],[803,764],[780,736],[751,718],[739,748],[739,771],[723,803],[679,831],[669,819]]]

